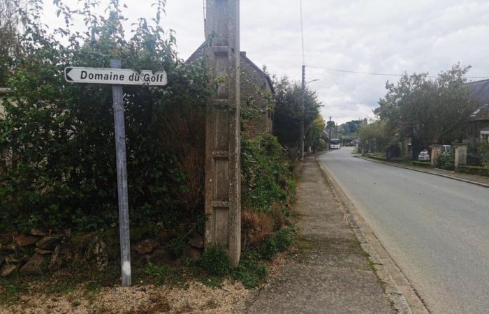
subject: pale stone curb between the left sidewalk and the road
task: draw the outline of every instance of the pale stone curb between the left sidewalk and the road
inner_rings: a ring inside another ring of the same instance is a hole
[[[370,227],[365,223],[358,210],[349,200],[349,197],[344,193],[342,188],[326,169],[318,158],[316,158],[325,179],[331,186],[337,200],[346,209],[346,218],[353,232],[356,234],[360,246],[363,251],[369,255],[370,262],[374,265],[375,273],[380,281],[384,283],[384,291],[393,308],[397,313],[403,314],[428,314],[428,309],[423,304],[423,301],[417,294],[414,287],[411,286],[397,264],[388,255],[384,246],[380,243],[377,236],[370,230]]]

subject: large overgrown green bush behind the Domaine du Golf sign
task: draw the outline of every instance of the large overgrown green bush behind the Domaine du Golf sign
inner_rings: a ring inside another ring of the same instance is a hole
[[[98,8],[68,10],[59,4],[67,24],[73,15],[87,22],[79,33],[68,25],[57,30],[66,40],[57,40],[43,27],[39,9],[22,13],[25,55],[8,81],[13,91],[3,101],[0,119],[0,151],[5,153],[0,156],[0,230],[70,227],[85,232],[117,223],[112,89],[68,84],[63,75],[66,66],[110,67],[110,59],[122,60],[123,68],[168,73],[164,88],[124,87],[131,223],[166,223],[195,217],[194,211],[202,209],[203,167],[198,160],[203,147],[194,154],[178,153],[180,147],[164,135],[181,131],[173,135],[180,142],[199,141],[188,138],[193,128],[172,129],[165,117],[175,107],[189,117],[205,106],[212,91],[202,62],[190,65],[177,59],[173,33],[160,25],[163,2],[156,6],[153,22],[139,20],[126,33],[117,1],[110,2],[101,19],[92,18]],[[199,136],[203,142],[203,130]],[[182,155],[195,160],[182,160]]]

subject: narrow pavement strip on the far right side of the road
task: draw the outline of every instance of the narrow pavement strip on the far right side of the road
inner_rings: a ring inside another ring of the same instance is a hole
[[[442,170],[442,169],[436,169],[436,168],[418,167],[415,165],[406,165],[404,163],[394,163],[392,161],[378,160],[378,159],[368,158],[368,157],[360,156],[360,155],[357,155],[356,157],[362,158],[365,160],[369,160],[369,161],[373,161],[374,163],[384,163],[385,165],[391,165],[394,167],[400,167],[400,168],[414,170],[414,171],[418,171],[418,172],[435,174],[437,176],[446,177],[449,179],[455,179],[458,181],[464,181],[464,182],[467,182],[469,184],[476,184],[478,186],[483,186],[485,188],[489,188],[489,177],[483,177],[483,176],[479,176],[476,174],[460,173],[460,172],[454,172],[454,171],[448,171],[448,170]]]

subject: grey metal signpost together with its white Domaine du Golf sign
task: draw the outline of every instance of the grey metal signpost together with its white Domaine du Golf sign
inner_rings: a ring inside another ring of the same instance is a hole
[[[115,154],[117,160],[117,195],[119,199],[119,237],[121,246],[122,285],[131,285],[131,251],[129,241],[129,202],[127,197],[126,130],[122,85],[164,86],[166,73],[150,70],[121,69],[119,60],[111,60],[112,68],[67,67],[64,78],[71,83],[112,84],[114,100]]]

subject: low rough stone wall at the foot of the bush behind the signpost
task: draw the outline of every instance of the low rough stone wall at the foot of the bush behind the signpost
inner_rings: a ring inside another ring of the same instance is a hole
[[[187,230],[187,229],[186,229]],[[175,234],[155,234],[147,226],[131,230],[131,261],[135,267],[153,264],[177,265],[185,258],[198,260],[203,252],[203,235],[188,232],[180,253],[172,247]],[[15,273],[45,274],[66,267],[103,271],[119,265],[117,228],[92,234],[49,234],[41,230],[0,234],[0,277]]]

